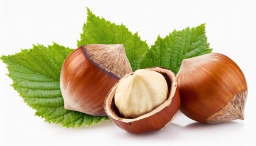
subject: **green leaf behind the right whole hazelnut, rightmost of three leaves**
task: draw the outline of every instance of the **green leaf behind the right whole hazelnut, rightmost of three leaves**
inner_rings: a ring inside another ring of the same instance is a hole
[[[139,68],[165,67],[174,74],[179,71],[182,60],[212,52],[205,35],[205,24],[174,30],[165,38],[158,36],[140,61]]]

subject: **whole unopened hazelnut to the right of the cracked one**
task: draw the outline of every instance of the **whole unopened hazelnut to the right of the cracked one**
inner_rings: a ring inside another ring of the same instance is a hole
[[[190,119],[204,123],[244,119],[246,78],[226,55],[211,53],[185,59],[177,78],[180,111]]]

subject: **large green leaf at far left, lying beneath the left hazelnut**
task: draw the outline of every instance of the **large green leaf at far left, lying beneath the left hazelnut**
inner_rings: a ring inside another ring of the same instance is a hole
[[[60,71],[72,51],[56,43],[48,47],[38,44],[18,54],[2,56],[1,60],[7,64],[13,88],[27,105],[36,110],[35,114],[47,122],[80,127],[108,119],[107,116],[94,117],[64,109],[59,85]]]

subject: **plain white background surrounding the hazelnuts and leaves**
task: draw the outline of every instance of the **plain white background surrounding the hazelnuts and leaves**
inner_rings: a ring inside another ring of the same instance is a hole
[[[34,116],[0,61],[0,145],[256,145],[256,1],[0,1],[0,55],[48,46],[76,48],[87,9],[154,44],[158,34],[206,23],[213,52],[232,58],[249,88],[245,119],[205,125],[182,113],[162,131],[129,134],[114,123],[64,128]]]

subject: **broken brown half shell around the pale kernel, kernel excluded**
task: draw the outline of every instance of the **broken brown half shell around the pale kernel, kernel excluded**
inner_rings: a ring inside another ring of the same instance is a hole
[[[118,125],[118,127],[126,130],[129,133],[146,133],[150,131],[158,131],[166,127],[180,108],[180,95],[177,86],[176,76],[173,72],[165,68],[148,68],[150,71],[155,71],[163,75],[168,84],[168,97],[165,102],[157,106],[149,113],[143,114],[135,118],[126,118],[119,113],[115,105],[115,92],[119,84],[133,73],[125,75],[116,83],[115,86],[108,92],[105,99],[104,108],[107,116]],[[149,78],[148,80],[154,80]]]

